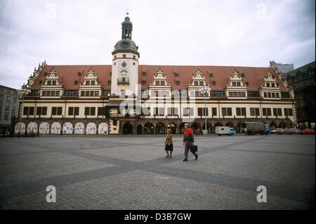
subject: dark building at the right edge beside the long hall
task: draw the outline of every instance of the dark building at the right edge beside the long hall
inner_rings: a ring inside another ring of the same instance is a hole
[[[282,74],[296,101],[297,126],[315,129],[315,61]]]

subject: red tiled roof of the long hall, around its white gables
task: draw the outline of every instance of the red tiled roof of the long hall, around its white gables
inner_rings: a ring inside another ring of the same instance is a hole
[[[98,76],[98,81],[101,83],[102,88],[110,89],[111,85],[108,81],[111,80],[110,72],[112,65],[46,65],[39,77],[34,82],[31,89],[39,89],[39,81],[44,80],[44,73],[50,72],[51,69],[56,71],[60,76],[60,81],[65,89],[76,90],[79,89],[79,84],[75,85],[74,81],[78,80],[81,83],[84,76],[87,75],[88,70],[92,70]],[[231,74],[236,70],[244,74],[244,81],[249,83],[247,86],[248,91],[258,91],[258,88],[263,85],[263,78],[267,72],[272,73],[275,77],[275,71],[271,67],[233,67],[233,66],[178,66],[178,65],[139,65],[138,67],[138,81],[146,81],[146,85],[142,85],[142,89],[147,89],[154,81],[154,75],[158,70],[162,70],[166,74],[167,84],[171,84],[172,89],[186,89],[192,83],[192,76],[199,70],[204,74],[205,81],[213,91],[222,91],[225,85],[228,84]],[[81,77],[78,77],[78,72],[81,72]],[[146,72],[146,77],[143,77],[143,72]],[[174,76],[174,72],[179,74],[179,77]],[[213,74],[210,79],[209,73]],[[180,85],[176,85],[176,81],[180,81]],[[216,81],[213,86],[211,81]],[[281,81],[277,79],[281,91],[287,91],[282,85]]]

